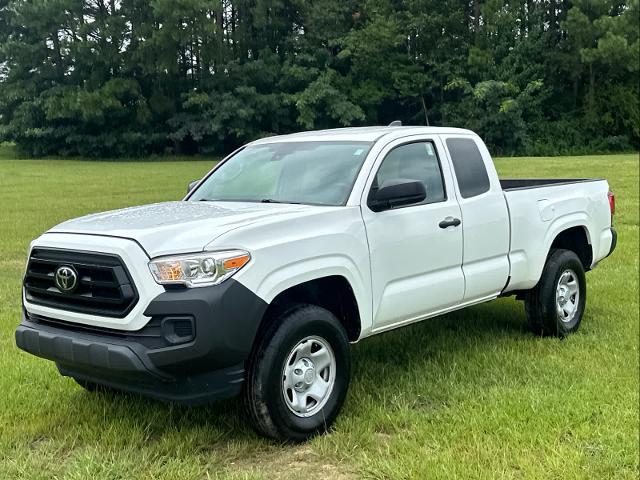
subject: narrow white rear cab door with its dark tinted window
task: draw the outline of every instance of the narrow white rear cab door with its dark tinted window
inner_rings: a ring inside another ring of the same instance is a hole
[[[444,137],[462,211],[464,301],[495,296],[509,276],[509,211],[484,143],[475,136]]]

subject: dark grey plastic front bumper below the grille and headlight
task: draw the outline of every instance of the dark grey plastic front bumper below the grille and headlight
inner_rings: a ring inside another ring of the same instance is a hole
[[[242,389],[245,362],[265,302],[233,279],[168,290],[147,306],[138,332],[29,314],[16,330],[22,350],[56,362],[66,376],[179,403],[204,403]],[[168,326],[188,320],[182,337]]]

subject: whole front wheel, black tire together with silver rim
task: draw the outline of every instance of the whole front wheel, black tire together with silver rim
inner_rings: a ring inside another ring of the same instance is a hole
[[[327,431],[349,386],[349,341],[339,320],[299,305],[267,328],[248,369],[245,402],[255,429],[303,441]]]

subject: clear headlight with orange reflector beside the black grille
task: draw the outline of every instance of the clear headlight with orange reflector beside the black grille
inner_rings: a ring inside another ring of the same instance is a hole
[[[224,282],[249,260],[251,255],[243,250],[202,252],[158,258],[149,262],[149,269],[161,285],[204,287]]]

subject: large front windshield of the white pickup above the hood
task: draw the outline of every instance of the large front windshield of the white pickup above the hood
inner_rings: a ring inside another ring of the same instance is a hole
[[[189,200],[344,205],[370,142],[248,146],[227,159]]]

